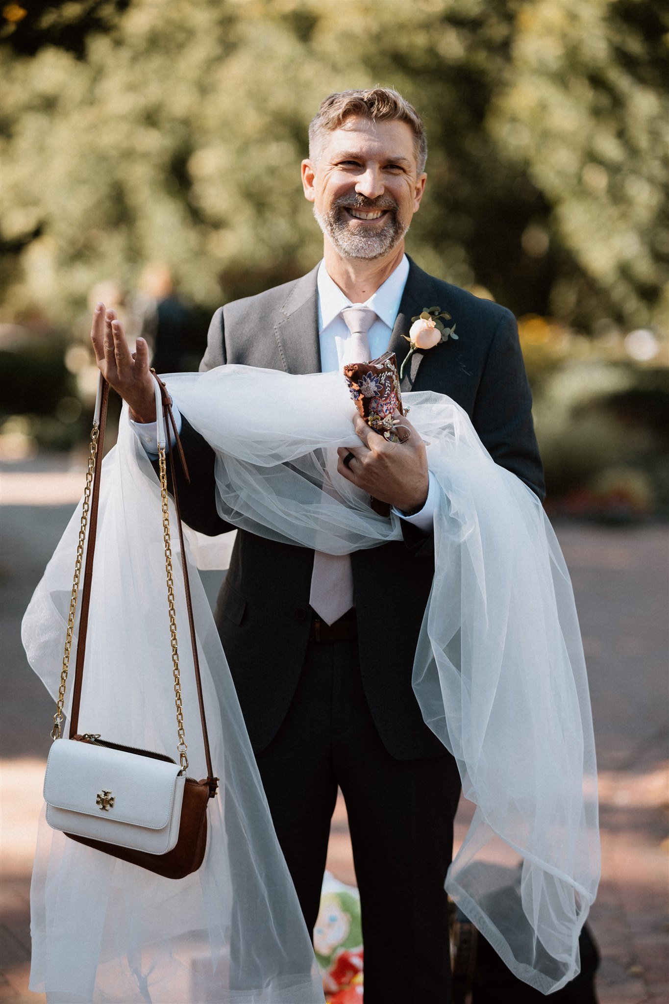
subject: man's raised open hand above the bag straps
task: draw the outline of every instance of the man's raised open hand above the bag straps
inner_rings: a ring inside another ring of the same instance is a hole
[[[148,345],[137,338],[136,349],[128,348],[115,310],[98,303],[93,311],[90,338],[102,375],[126,401],[133,422],[155,422],[155,391],[148,368]]]

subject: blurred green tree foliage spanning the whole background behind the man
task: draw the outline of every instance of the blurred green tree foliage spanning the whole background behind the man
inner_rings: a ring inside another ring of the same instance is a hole
[[[157,259],[210,308],[301,274],[321,247],[299,183],[309,119],[330,91],[382,82],[426,121],[429,187],[408,239],[425,268],[517,313],[584,328],[662,321],[659,6],[131,0],[63,11],[73,7],[110,18],[83,31],[81,51],[56,36],[21,48],[27,17],[5,43],[8,314],[38,307],[68,324],[96,281],[132,286]]]

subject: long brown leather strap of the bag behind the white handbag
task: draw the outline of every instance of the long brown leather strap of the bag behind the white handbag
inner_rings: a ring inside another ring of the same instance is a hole
[[[186,464],[186,457],[184,454],[184,448],[182,447],[181,440],[177,433],[177,424],[175,422],[175,417],[172,413],[172,402],[168,394],[168,389],[158,376],[153,372],[154,379],[157,381],[160,387],[160,395],[162,398],[162,410],[164,415],[165,430],[169,430],[170,425],[175,435],[175,442],[178,448],[178,453],[180,460],[184,467],[184,473],[187,480],[190,483],[189,470]],[[76,666],[74,672],[74,689],[72,692],[72,710],[70,713],[70,727],[69,727],[69,737],[72,739],[77,733],[77,726],[79,721],[79,706],[81,703],[81,683],[83,679],[83,662],[85,656],[86,648],[86,631],[88,626],[88,608],[90,605],[90,587],[92,581],[92,571],[93,571],[93,556],[95,552],[95,537],[97,530],[97,508],[99,502],[100,494],[100,472],[102,464],[102,448],[104,444],[104,430],[106,426],[106,414],[107,414],[107,401],[109,395],[109,385],[105,380],[102,382],[102,399],[100,408],[100,422],[99,422],[99,434],[97,439],[97,454],[95,456],[95,467],[93,471],[93,491],[90,502],[90,514],[88,517],[88,546],[86,548],[86,561],[84,565],[83,572],[83,584],[81,589],[81,607],[79,614],[79,634],[77,637],[76,646]],[[168,436],[168,443],[171,442],[171,437]],[[189,628],[191,631],[191,645],[193,647],[193,663],[195,667],[196,674],[196,686],[198,689],[198,702],[200,705],[200,719],[202,723],[203,739],[205,745],[205,757],[207,760],[207,784],[209,785],[210,798],[216,795],[218,788],[218,777],[214,777],[214,768],[212,766],[212,755],[209,748],[209,735],[207,732],[207,718],[205,715],[205,701],[202,689],[202,679],[200,676],[200,661],[198,658],[198,641],[196,638],[196,629],[193,618],[193,603],[191,600],[191,583],[189,580],[189,570],[186,561],[186,548],[184,546],[184,531],[182,528],[182,514],[179,506],[179,497],[177,494],[177,479],[175,477],[175,460],[174,451],[171,446],[168,447],[168,452],[170,454],[170,470],[172,473],[173,482],[173,494],[175,498],[175,508],[177,510],[177,525],[179,529],[179,543],[182,551],[182,567],[184,569],[184,588],[186,592],[186,606],[189,614]]]

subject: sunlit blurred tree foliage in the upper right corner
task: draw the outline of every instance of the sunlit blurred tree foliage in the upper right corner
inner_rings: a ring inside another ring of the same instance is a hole
[[[563,318],[666,324],[668,29],[669,8],[646,0],[519,8],[488,122],[578,265],[553,284],[551,311]]]

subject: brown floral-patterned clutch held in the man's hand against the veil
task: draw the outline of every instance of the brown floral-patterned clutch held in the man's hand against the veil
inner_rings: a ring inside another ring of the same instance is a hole
[[[344,379],[358,412],[370,428],[390,443],[399,443],[392,424],[393,415],[405,413],[395,353],[384,352],[370,362],[349,362],[344,366]],[[390,515],[387,502],[371,498],[370,504],[380,516]]]

